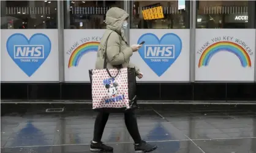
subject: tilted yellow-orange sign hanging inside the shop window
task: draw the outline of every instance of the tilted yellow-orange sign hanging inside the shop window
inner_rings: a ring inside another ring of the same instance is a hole
[[[144,20],[156,20],[164,18],[162,6],[152,7],[150,9],[142,10]]]

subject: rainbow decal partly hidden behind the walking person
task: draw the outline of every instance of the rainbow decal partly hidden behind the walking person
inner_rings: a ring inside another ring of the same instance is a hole
[[[88,43],[81,44],[78,46],[70,55],[69,57],[69,65],[68,67],[78,66],[78,63],[83,55],[85,55],[88,52],[97,52],[99,47],[99,42],[97,41],[91,41]]]

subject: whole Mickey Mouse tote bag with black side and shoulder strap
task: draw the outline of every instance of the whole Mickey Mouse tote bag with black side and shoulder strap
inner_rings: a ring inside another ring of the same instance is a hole
[[[107,42],[110,35],[105,43],[104,69],[89,70],[92,109],[124,112],[138,107],[135,68],[107,68]]]

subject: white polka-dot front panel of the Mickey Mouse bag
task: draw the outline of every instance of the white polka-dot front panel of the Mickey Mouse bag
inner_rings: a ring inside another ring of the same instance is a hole
[[[109,69],[111,76],[118,69]],[[107,85],[106,85],[107,84]],[[118,76],[111,78],[106,69],[92,70],[92,109],[129,108],[127,68],[122,68]]]

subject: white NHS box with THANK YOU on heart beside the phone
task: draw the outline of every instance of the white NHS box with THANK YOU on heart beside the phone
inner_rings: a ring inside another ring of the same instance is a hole
[[[145,59],[151,62],[168,62],[168,59],[175,58],[175,45],[147,45],[145,44]],[[162,60],[161,60],[162,59]]]

